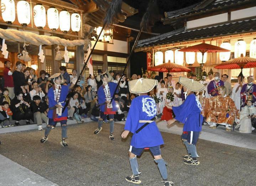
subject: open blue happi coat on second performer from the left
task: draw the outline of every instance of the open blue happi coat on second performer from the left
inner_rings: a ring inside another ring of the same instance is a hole
[[[110,98],[113,97],[116,86],[117,86],[116,83],[113,83],[113,82],[108,83],[108,89],[110,90],[110,96],[109,96]],[[105,112],[105,108],[106,108],[107,104],[103,104],[106,102],[106,95],[103,90],[103,85],[100,86],[97,94],[98,94],[98,101],[99,101],[99,105],[100,105],[100,111]],[[112,100],[112,106],[113,106],[112,111],[116,111],[117,107],[116,107],[116,102],[114,101],[114,99]]]

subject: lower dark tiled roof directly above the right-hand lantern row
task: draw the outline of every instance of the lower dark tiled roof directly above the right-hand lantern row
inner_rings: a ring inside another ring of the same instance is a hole
[[[184,41],[207,39],[217,36],[226,36],[248,32],[256,32],[256,18],[245,19],[243,21],[220,24],[194,30],[185,30],[184,28],[182,28],[179,30],[155,36],[153,38],[140,40],[137,43],[137,48],[173,44]]]

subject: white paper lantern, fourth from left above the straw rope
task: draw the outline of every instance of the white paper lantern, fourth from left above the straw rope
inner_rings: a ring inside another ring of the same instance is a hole
[[[48,22],[48,27],[52,31],[56,31],[59,28],[59,12],[53,6],[51,6],[47,10],[47,22]]]

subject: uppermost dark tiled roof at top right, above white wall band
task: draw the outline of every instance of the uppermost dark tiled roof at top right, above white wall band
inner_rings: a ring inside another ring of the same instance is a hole
[[[171,19],[174,17],[182,17],[186,15],[191,15],[194,13],[199,13],[199,12],[206,12],[206,11],[211,11],[211,10],[216,10],[216,9],[223,9],[225,7],[235,5],[241,2],[246,2],[246,1],[253,1],[253,0],[215,0],[211,2],[209,5],[205,6],[202,9],[194,10],[195,7],[198,4],[186,7],[184,9],[176,10],[176,11],[171,11],[171,12],[166,12],[166,19]],[[200,4],[200,3],[199,3]],[[194,7],[193,7],[194,6]]]

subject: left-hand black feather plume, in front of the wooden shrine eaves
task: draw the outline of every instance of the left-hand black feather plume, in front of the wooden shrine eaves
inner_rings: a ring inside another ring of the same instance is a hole
[[[122,7],[122,0],[112,0],[110,6],[106,11],[106,16],[103,19],[103,24],[106,27],[110,27],[112,24],[118,22],[118,17],[120,16]]]

